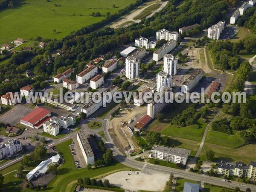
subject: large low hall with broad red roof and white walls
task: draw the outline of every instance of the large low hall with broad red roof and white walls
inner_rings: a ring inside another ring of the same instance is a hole
[[[40,128],[44,122],[50,119],[51,112],[44,108],[35,108],[20,119],[20,123],[31,128]]]

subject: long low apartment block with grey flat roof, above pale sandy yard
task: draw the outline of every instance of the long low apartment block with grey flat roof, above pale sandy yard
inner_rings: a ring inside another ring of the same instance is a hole
[[[172,163],[182,163],[186,165],[189,154],[191,151],[183,148],[171,148],[163,147],[160,145],[153,145],[151,148],[150,157],[155,159],[160,159]]]

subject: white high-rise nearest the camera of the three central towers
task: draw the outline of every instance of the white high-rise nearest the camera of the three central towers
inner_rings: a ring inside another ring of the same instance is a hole
[[[158,92],[162,92],[166,88],[172,88],[172,76],[163,71],[158,72],[156,85]]]

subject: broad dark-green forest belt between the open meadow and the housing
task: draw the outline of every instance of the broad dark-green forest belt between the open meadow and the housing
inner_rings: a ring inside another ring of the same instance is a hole
[[[219,20],[224,20],[227,14],[227,8],[236,1],[218,1],[218,0],[172,0],[164,9],[153,17],[143,19],[140,23],[134,23],[126,28],[102,27],[114,18],[134,9],[134,6],[140,5],[141,0],[131,4],[118,13],[108,15],[104,20],[91,26],[83,27],[80,30],[70,33],[61,40],[49,40],[36,38],[37,41],[47,42],[44,48],[33,48],[29,53],[14,53],[8,64],[1,65],[1,81],[8,78],[10,81],[1,86],[0,94],[7,91],[17,91],[25,84],[40,82],[28,79],[23,75],[24,71],[35,67],[35,74],[43,76],[45,79],[56,75],[60,67],[75,68],[74,73],[79,73],[86,67],[85,63],[98,55],[109,52],[117,47],[134,41],[140,36],[151,37],[159,29],[166,28],[177,30],[180,27],[198,23],[202,28],[212,26]],[[183,3],[182,6],[180,3]],[[65,53],[52,58],[51,53],[56,49],[62,49]],[[27,55],[26,55],[27,54]],[[6,55],[10,57],[10,55]],[[1,58],[3,61],[3,58]]]

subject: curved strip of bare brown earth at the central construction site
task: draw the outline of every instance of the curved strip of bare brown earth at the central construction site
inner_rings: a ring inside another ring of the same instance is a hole
[[[137,148],[137,144],[132,141],[133,134],[130,128],[133,128],[144,114],[147,114],[146,105],[140,107],[129,106],[111,120],[109,133],[122,153]]]

